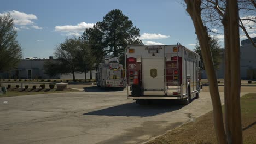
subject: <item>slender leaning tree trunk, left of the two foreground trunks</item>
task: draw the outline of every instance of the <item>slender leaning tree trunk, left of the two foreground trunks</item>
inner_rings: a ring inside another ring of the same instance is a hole
[[[223,124],[222,105],[220,102],[217,77],[214,70],[212,54],[209,45],[209,37],[201,19],[201,0],[185,0],[187,11],[194,23],[195,31],[202,51],[203,62],[205,63],[206,74],[210,83],[209,89],[213,106],[214,127],[218,143],[227,143]]]

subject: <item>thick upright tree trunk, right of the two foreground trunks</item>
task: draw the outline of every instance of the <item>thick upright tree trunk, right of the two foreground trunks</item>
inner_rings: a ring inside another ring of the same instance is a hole
[[[227,2],[225,35],[225,128],[228,143],[243,143],[240,107],[240,43],[237,0]]]

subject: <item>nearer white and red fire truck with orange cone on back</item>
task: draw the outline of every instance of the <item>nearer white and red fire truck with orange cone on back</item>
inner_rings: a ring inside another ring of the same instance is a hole
[[[125,49],[127,99],[177,99],[187,105],[199,98],[200,56],[176,45],[128,45]]]

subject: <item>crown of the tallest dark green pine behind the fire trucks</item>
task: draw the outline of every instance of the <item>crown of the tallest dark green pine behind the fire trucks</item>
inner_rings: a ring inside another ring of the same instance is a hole
[[[98,58],[97,64],[103,56],[119,57],[124,64],[124,49],[129,44],[142,44],[138,39],[139,29],[121,10],[114,9],[97,22],[93,28],[85,29],[81,39],[91,47],[92,53]]]

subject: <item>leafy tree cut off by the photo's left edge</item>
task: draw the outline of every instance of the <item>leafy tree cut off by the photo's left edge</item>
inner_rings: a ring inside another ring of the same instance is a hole
[[[10,14],[0,15],[0,72],[13,69],[22,58],[13,21]]]

